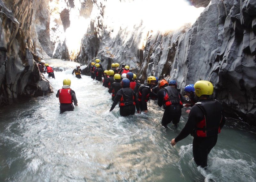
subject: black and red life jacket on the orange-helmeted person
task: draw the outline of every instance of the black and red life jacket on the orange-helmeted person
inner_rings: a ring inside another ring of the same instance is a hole
[[[167,86],[164,87],[163,90],[165,91],[165,96],[163,99],[163,105],[165,107],[179,104],[182,105],[182,102],[180,101],[180,95],[177,89],[172,86]]]

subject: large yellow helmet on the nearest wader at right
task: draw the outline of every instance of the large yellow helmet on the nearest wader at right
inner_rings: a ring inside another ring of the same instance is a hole
[[[194,85],[195,94],[200,97],[201,95],[212,95],[213,85],[211,82],[199,80]]]

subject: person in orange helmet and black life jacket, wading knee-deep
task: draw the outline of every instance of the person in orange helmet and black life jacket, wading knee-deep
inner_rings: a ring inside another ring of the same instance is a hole
[[[167,124],[173,123],[177,125],[180,122],[181,108],[183,107],[180,101],[180,95],[175,87],[168,86],[166,80],[159,82],[158,101],[157,105],[164,108],[164,115],[162,118],[162,125],[167,127]]]

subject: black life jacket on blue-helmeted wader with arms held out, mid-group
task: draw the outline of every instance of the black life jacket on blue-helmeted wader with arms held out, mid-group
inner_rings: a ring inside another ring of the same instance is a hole
[[[122,88],[122,89],[120,89],[120,91],[122,93],[122,97],[120,98],[120,101],[119,101],[120,107],[135,105],[134,95],[133,95],[132,89],[130,87]]]

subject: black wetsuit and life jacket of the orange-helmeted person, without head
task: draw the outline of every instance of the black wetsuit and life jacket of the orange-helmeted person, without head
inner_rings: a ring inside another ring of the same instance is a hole
[[[167,124],[169,123],[173,123],[173,124],[177,124],[180,122],[180,116],[181,116],[181,108],[183,106],[180,105],[180,97],[179,97],[179,93],[178,91],[171,86],[167,86],[165,87],[165,89],[170,89],[168,93],[169,98],[172,102],[172,105],[170,106],[164,106],[164,97],[166,95],[166,91],[164,89],[161,89],[160,91],[158,91],[158,101],[157,101],[157,105],[159,107],[163,106],[164,107],[164,115],[162,118],[162,125],[164,127],[167,127]],[[171,94],[171,96],[170,96]]]

